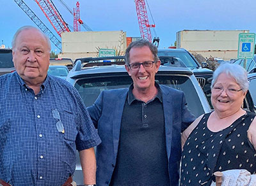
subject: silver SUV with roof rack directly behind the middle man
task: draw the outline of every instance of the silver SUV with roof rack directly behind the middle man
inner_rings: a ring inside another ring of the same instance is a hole
[[[78,90],[86,106],[91,106],[102,90],[125,88],[132,83],[124,67],[124,57],[77,59],[76,65],[68,73],[67,81]],[[190,69],[160,66],[156,81],[159,84],[184,91],[189,110],[196,117],[211,111],[204,92]],[[78,160],[74,180],[78,185],[83,182]]]

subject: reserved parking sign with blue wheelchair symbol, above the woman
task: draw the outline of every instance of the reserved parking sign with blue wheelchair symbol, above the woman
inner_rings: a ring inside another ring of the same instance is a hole
[[[255,47],[255,33],[240,33],[238,39],[237,58],[244,59],[244,68],[247,59],[253,59]]]

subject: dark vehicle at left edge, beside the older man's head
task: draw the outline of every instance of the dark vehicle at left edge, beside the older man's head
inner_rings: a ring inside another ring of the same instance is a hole
[[[12,61],[12,50],[0,48],[0,75],[15,71]]]

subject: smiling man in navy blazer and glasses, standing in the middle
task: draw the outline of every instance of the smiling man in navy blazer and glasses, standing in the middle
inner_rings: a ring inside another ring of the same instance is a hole
[[[125,52],[129,89],[102,91],[88,108],[102,143],[97,185],[179,185],[180,133],[195,117],[184,93],[158,85],[157,48],[140,40]]]

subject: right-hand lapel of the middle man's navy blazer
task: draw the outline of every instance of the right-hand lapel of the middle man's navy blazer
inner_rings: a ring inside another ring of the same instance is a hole
[[[170,95],[169,92],[164,91],[163,87],[161,87],[161,91],[163,96],[166,152],[169,161],[172,146],[172,95]]]

